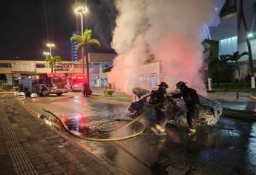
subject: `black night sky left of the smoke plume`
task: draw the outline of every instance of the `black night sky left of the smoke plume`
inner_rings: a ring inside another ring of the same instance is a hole
[[[0,59],[45,60],[47,42],[56,47],[53,55],[70,61],[70,36],[76,31],[74,0],[1,1]],[[116,9],[113,0],[88,0],[88,28],[102,47],[91,51],[114,53],[111,36]]]

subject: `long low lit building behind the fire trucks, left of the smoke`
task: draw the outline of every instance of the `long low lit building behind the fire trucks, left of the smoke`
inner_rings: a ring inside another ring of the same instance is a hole
[[[105,68],[113,65],[115,54],[108,53],[89,53],[89,73],[90,82],[93,87],[102,87],[102,79],[100,73]],[[85,65],[86,67],[86,65]],[[62,62],[61,65],[56,65],[53,68],[56,73],[82,73],[82,60],[75,62]],[[85,71],[86,72],[86,71]],[[7,85],[15,85],[19,77],[23,75],[38,75],[42,73],[51,73],[51,68],[47,66],[45,61],[20,61],[20,60],[0,60],[0,74],[7,76]],[[107,80],[108,82],[108,80]],[[108,83],[105,83],[108,84]]]

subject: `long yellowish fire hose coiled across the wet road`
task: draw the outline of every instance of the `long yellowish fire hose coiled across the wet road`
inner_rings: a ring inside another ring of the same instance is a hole
[[[48,103],[48,105],[52,104],[53,102],[57,102],[57,101],[65,100],[65,99],[72,99],[73,97],[74,96],[67,96],[67,97],[62,98],[62,99],[55,99],[55,100],[51,101],[50,103]],[[86,137],[86,136],[76,135],[75,133],[72,133],[68,129],[68,127],[62,122],[62,120],[59,118],[59,116],[56,116],[56,114],[54,114],[50,110],[46,110],[47,105],[46,105],[45,108],[43,108],[43,110],[47,113],[50,113],[52,116],[56,117],[56,119],[58,119],[60,121],[60,123],[62,124],[62,127],[65,128],[65,131],[68,131],[68,133],[70,133],[73,136],[78,137],[79,139],[85,139],[85,140],[96,141],[96,142],[110,142],[110,141],[118,141],[118,140],[123,140],[123,139],[131,139],[135,136],[139,136],[140,134],[142,134],[145,131],[146,126],[142,122],[138,122],[138,120],[142,119],[142,117],[145,116],[146,113],[148,113],[149,111],[151,111],[152,109],[156,108],[159,105],[160,104],[158,103],[156,105],[153,105],[153,106],[147,108],[142,113],[140,113],[139,116],[137,116],[135,119],[132,119],[132,120],[130,120],[130,119],[116,119],[116,120],[110,120],[110,121],[107,121],[107,122],[102,122],[99,125],[96,125],[97,131],[99,131],[101,133],[111,133],[111,132],[114,132],[114,131],[119,131],[119,130],[122,130],[122,129],[128,127],[129,125],[132,125],[134,122],[139,123],[140,125],[142,125],[142,130],[141,131],[138,131],[137,133],[133,133],[133,134],[128,135],[128,136],[122,136],[122,137],[116,137],[116,138],[93,138],[93,137]],[[125,125],[122,125],[119,128],[114,128],[114,129],[108,130],[108,131],[100,129],[100,126],[102,126],[106,123],[110,123],[110,122],[128,122],[128,123],[125,124]]]

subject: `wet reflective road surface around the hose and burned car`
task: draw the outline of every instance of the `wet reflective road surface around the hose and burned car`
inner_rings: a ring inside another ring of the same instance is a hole
[[[24,99],[35,110],[60,97]],[[105,136],[96,125],[108,119],[124,119],[127,102],[105,97],[73,99],[54,102],[47,110],[58,115],[72,132],[85,136]],[[46,117],[48,124],[58,128],[58,120]],[[142,119],[145,122],[146,119]],[[122,122],[111,125],[119,127]],[[105,126],[108,128],[108,126]],[[140,128],[134,125],[119,131],[129,134]],[[148,127],[133,139],[118,142],[88,142],[76,139],[88,151],[132,174],[256,174],[256,124],[223,117],[213,127],[201,127],[194,136],[187,136],[186,128],[167,125],[166,136],[156,136]],[[113,136],[113,135],[111,135]]]

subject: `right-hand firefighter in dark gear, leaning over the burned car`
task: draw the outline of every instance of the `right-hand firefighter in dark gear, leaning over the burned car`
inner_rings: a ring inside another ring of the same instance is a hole
[[[187,87],[185,82],[178,82],[176,89],[180,90],[180,93],[172,93],[172,96],[173,98],[183,98],[187,111],[188,135],[194,134],[196,132],[196,122],[200,108],[199,96],[197,95],[197,91]]]

